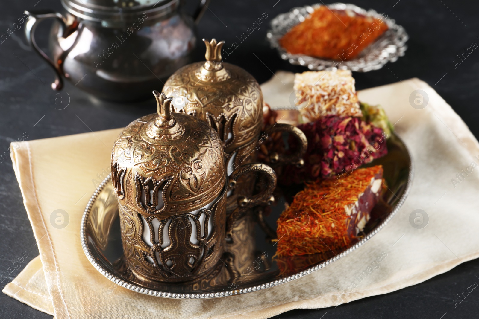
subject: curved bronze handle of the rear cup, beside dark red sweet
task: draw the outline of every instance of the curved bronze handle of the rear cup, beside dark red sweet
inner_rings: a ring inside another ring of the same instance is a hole
[[[270,154],[269,160],[273,165],[277,164],[292,164],[296,165],[298,168],[304,165],[303,156],[306,154],[308,149],[308,140],[306,135],[298,129],[296,126],[285,124],[285,123],[276,123],[273,126],[266,128],[266,132],[269,134],[274,132],[288,132],[298,141],[298,149],[296,154],[278,154],[276,152]]]

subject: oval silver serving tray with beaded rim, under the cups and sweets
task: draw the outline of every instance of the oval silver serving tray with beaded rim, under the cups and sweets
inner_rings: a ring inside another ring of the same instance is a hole
[[[105,277],[114,283],[139,293],[169,298],[217,298],[248,293],[277,286],[285,282],[308,275],[313,271],[323,268],[339,258],[351,253],[367,242],[396,214],[411,187],[413,165],[406,145],[398,136],[392,135],[388,140],[388,154],[373,162],[364,165],[383,165],[384,178],[388,184],[388,191],[383,195],[383,205],[376,205],[372,218],[365,226],[363,237],[350,248],[336,252],[331,258],[325,259],[324,255],[296,256],[287,259],[286,270],[280,271],[276,261],[272,260],[275,246],[271,241],[265,240],[265,234],[259,226],[255,226],[255,238],[241,242],[241,248],[254,246],[259,252],[255,262],[258,267],[248,267],[247,271],[241,270],[241,276],[234,281],[225,281],[227,268],[225,263],[218,263],[217,269],[195,282],[188,283],[163,283],[143,282],[131,272],[123,261],[121,234],[118,217],[117,199],[113,193],[110,176],[105,178],[91,196],[81,220],[81,245],[91,264]],[[284,201],[284,198],[283,198]],[[278,201],[281,204],[281,201]],[[386,204],[386,205],[384,205]],[[273,207],[267,222],[275,225],[275,221],[284,210],[284,205]],[[255,261],[255,259],[252,259]],[[228,261],[226,261],[228,263]],[[225,264],[225,266],[223,266]],[[125,273],[129,273],[125,276]],[[222,280],[220,280],[223,278]]]

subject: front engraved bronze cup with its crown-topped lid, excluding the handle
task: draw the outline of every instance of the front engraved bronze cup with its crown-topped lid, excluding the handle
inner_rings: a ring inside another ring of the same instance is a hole
[[[112,151],[125,260],[146,281],[183,282],[216,269],[224,252],[226,169],[205,122],[170,112],[130,123]]]

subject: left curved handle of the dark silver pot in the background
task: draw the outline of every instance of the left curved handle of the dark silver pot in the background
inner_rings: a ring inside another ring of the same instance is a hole
[[[55,11],[45,11],[45,12],[29,12],[25,11],[25,14],[28,14],[27,22],[25,24],[25,36],[27,42],[34,48],[36,53],[38,53],[43,59],[53,68],[56,74],[55,82],[52,83],[52,88],[54,90],[61,90],[63,88],[63,79],[62,79],[62,71],[60,68],[53,62],[45,52],[43,52],[35,41],[35,29],[38,23],[42,22],[45,19],[55,18],[58,22],[60,22],[60,32],[62,33],[63,37],[66,37],[68,33],[67,28],[67,19],[58,12]],[[71,34],[71,33],[70,33]]]

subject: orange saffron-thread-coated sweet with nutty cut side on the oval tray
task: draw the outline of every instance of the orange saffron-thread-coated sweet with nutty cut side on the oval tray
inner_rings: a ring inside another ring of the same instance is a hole
[[[343,251],[353,245],[381,196],[383,168],[307,183],[277,220],[276,256]]]

